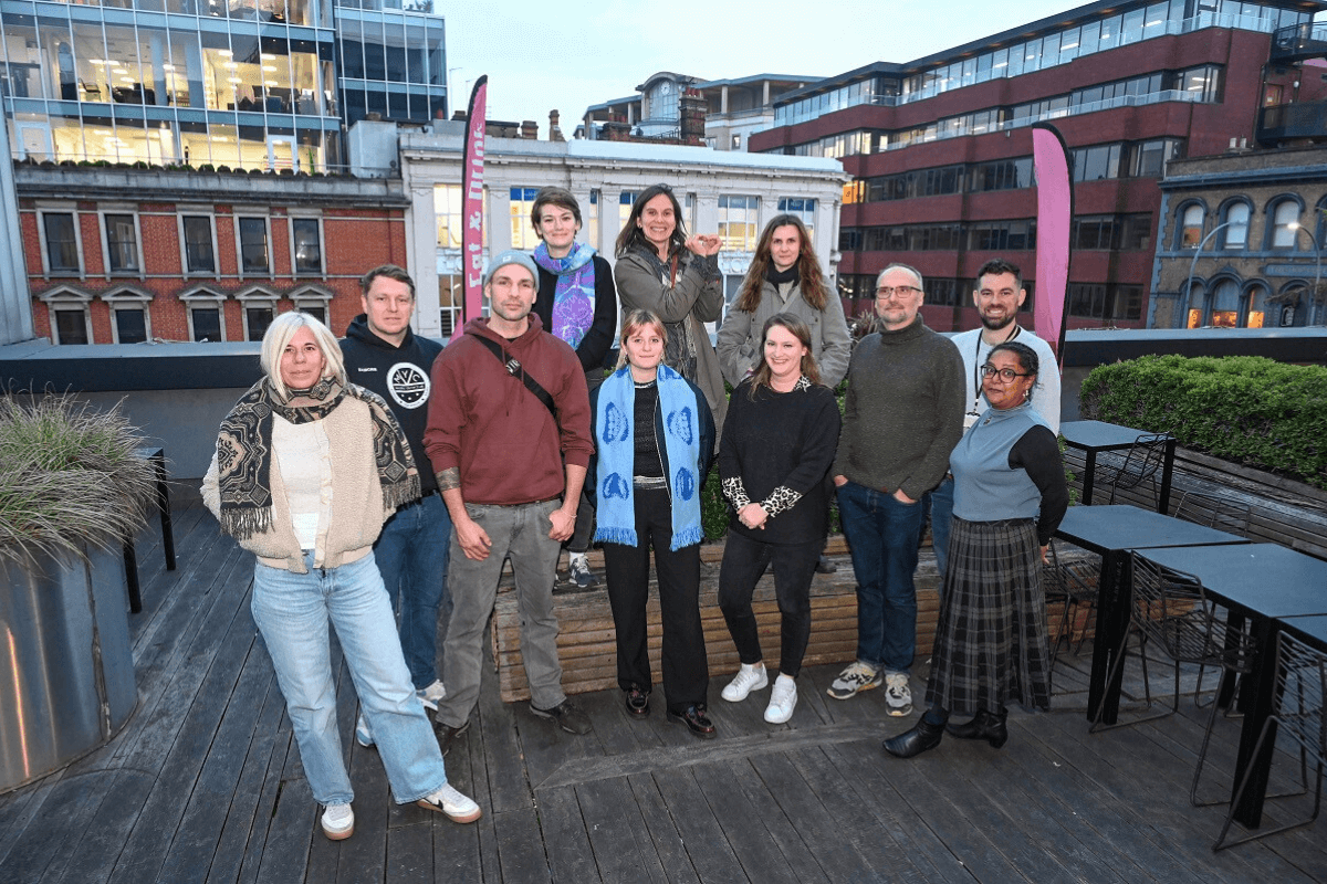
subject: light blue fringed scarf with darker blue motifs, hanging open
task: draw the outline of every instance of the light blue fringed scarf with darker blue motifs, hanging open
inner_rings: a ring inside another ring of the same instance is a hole
[[[658,368],[660,410],[664,414],[665,469],[673,470],[669,496],[673,510],[671,551],[699,543],[701,530],[701,420],[695,394],[667,366]],[[596,541],[636,546],[636,500],[632,472],[636,465],[636,382],[632,367],[614,371],[598,390],[594,443],[598,457],[598,520]]]

